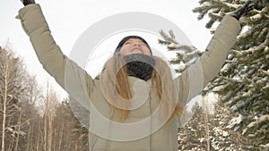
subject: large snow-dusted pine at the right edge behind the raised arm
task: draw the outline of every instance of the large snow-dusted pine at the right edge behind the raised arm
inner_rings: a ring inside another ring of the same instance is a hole
[[[221,96],[237,117],[228,128],[249,140],[249,150],[269,149],[269,1],[253,0],[254,10],[241,18],[242,32],[230,51],[220,75],[209,89]],[[245,0],[200,0],[194,13],[202,20],[208,15],[206,28],[221,21]]]

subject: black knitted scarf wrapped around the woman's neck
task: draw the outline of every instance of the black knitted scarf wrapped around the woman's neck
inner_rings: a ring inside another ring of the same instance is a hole
[[[149,55],[132,54],[124,56],[126,60],[127,74],[141,80],[152,78],[155,60]]]

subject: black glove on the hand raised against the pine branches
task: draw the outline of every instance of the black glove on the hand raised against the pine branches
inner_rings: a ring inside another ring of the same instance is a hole
[[[248,0],[246,4],[244,4],[242,7],[239,7],[237,10],[235,10],[233,13],[230,13],[230,16],[236,18],[237,20],[240,19],[240,17],[248,13],[254,8],[254,4],[252,4],[252,0]]]

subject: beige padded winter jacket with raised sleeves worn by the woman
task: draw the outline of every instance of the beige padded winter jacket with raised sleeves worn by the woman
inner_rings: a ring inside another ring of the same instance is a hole
[[[160,99],[157,96],[156,88],[152,87],[150,80],[146,81],[150,88],[147,100],[143,105],[132,110],[124,123],[117,125],[117,123],[109,121],[117,121],[118,111],[111,119],[110,105],[102,96],[100,80],[91,79],[86,71],[63,55],[50,34],[39,4],[29,4],[23,7],[17,17],[22,21],[22,28],[30,37],[39,62],[62,88],[65,88],[71,96],[80,100],[82,105],[91,110],[90,150],[178,150],[178,118],[175,118],[171,124],[164,124],[158,129],[154,124],[159,121],[154,117],[141,125],[136,125],[134,129],[132,128],[133,123],[143,122],[146,117],[152,115],[159,104]],[[179,85],[178,101],[181,105],[186,105],[192,97],[201,93],[201,89],[221,70],[231,46],[236,42],[239,30],[239,21],[229,15],[223,18],[200,61],[196,61],[189,70],[184,71],[176,79]],[[202,64],[202,70],[199,68],[200,64]],[[133,88],[138,79],[128,77],[128,80]],[[108,121],[101,121],[100,118],[103,117]],[[126,139],[129,141],[119,141]]]

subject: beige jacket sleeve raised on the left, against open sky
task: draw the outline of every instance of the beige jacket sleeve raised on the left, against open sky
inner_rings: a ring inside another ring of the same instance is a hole
[[[68,59],[56,45],[39,4],[26,5],[16,18],[21,20],[22,29],[30,37],[43,68],[74,98],[88,98],[94,80],[80,66]]]

